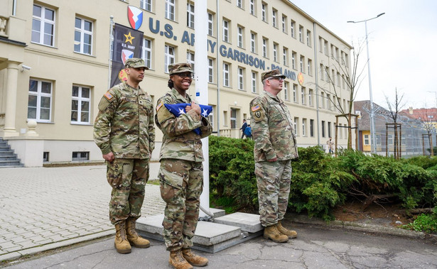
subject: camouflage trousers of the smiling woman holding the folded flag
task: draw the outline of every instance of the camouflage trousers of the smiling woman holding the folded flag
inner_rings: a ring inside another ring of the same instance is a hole
[[[161,197],[166,202],[163,235],[167,250],[190,248],[198,225],[203,165],[188,160],[163,159],[158,177]]]

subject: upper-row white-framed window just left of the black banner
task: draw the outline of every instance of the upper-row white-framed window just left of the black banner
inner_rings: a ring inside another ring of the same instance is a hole
[[[75,52],[92,54],[92,22],[82,18],[75,19]]]

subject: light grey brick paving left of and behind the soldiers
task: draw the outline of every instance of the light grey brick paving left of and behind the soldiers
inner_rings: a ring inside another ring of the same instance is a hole
[[[151,163],[151,179],[159,163]],[[115,234],[106,166],[0,169],[0,261]],[[146,185],[141,214],[162,214],[158,185]]]

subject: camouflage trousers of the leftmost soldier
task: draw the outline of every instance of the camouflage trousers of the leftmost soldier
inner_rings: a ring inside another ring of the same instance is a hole
[[[144,187],[149,180],[149,159],[114,159],[107,162],[107,180],[112,186],[109,219],[118,224],[129,216],[141,216]]]

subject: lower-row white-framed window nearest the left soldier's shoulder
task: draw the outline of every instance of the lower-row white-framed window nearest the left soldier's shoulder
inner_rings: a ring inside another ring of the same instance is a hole
[[[71,122],[90,124],[90,88],[75,86],[71,92]]]

